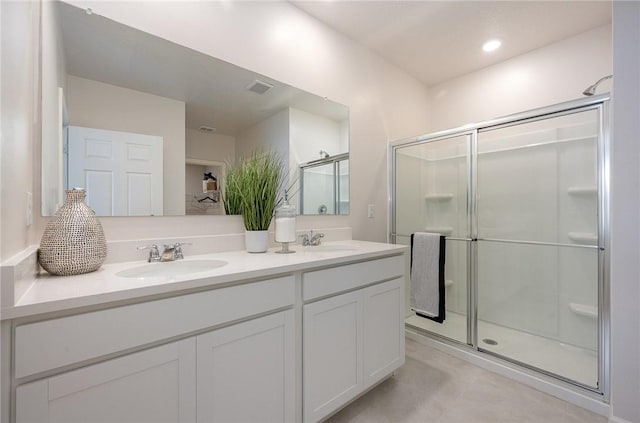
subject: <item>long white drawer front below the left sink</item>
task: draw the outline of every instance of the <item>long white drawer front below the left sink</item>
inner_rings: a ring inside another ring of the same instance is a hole
[[[294,292],[294,277],[286,276],[17,326],[15,376],[287,307]]]

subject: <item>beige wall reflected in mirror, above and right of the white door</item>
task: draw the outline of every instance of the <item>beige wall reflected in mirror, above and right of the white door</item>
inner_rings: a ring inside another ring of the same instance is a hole
[[[184,214],[185,103],[67,76],[69,125],[163,139],[163,212]]]

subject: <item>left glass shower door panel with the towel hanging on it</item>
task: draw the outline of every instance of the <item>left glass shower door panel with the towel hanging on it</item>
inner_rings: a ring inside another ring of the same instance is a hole
[[[394,147],[395,242],[410,244],[414,232],[445,235],[444,323],[417,316],[409,308],[406,323],[419,330],[468,342],[469,151],[470,134],[453,135]]]

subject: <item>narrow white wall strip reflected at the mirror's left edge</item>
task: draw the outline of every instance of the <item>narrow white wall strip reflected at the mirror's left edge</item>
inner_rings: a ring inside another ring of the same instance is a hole
[[[66,92],[62,28],[54,2],[42,3],[42,213],[52,215],[64,201],[62,110],[58,88]]]

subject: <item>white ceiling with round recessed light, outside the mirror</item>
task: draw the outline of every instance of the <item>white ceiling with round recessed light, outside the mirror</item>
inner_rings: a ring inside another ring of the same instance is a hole
[[[427,85],[611,23],[610,1],[290,1]]]

